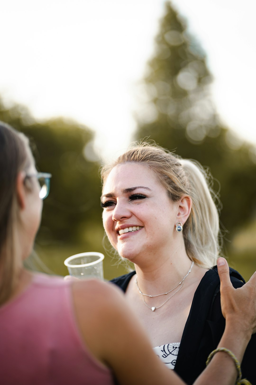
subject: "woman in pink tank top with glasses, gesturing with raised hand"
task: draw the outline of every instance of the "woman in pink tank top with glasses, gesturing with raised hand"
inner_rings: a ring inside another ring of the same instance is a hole
[[[28,139],[0,123],[0,382],[184,384],[152,352],[143,327],[114,285],[64,281],[23,268],[50,177],[36,172]],[[234,293],[222,262],[227,323],[220,346],[241,360],[256,332],[256,276]],[[233,384],[236,376],[232,358],[218,353],[196,384]]]

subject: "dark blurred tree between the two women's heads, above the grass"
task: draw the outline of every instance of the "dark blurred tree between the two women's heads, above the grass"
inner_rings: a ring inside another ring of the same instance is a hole
[[[99,226],[101,221],[99,161],[91,146],[92,131],[61,118],[38,123],[25,107],[7,108],[1,100],[0,120],[30,138],[38,169],[53,175],[38,242],[84,240],[86,227]]]

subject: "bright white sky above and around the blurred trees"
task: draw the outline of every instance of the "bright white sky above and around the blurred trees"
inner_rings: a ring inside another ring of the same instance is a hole
[[[256,144],[254,2],[172,4],[208,56],[221,118]],[[164,1],[0,0],[0,7],[2,97],[38,119],[64,115],[88,125],[100,154],[126,148]]]

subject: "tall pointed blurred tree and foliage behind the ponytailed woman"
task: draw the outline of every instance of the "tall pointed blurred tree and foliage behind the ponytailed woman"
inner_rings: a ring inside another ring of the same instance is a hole
[[[256,152],[221,126],[211,101],[212,77],[198,42],[170,2],[141,85],[144,104],[135,139],[149,137],[209,167],[221,185],[221,222],[231,239],[256,214]],[[216,182],[214,186],[218,191]]]

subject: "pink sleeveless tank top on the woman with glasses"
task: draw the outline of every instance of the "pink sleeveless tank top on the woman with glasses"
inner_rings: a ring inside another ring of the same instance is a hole
[[[0,383],[113,385],[111,371],[81,340],[70,281],[36,274],[0,308]]]

